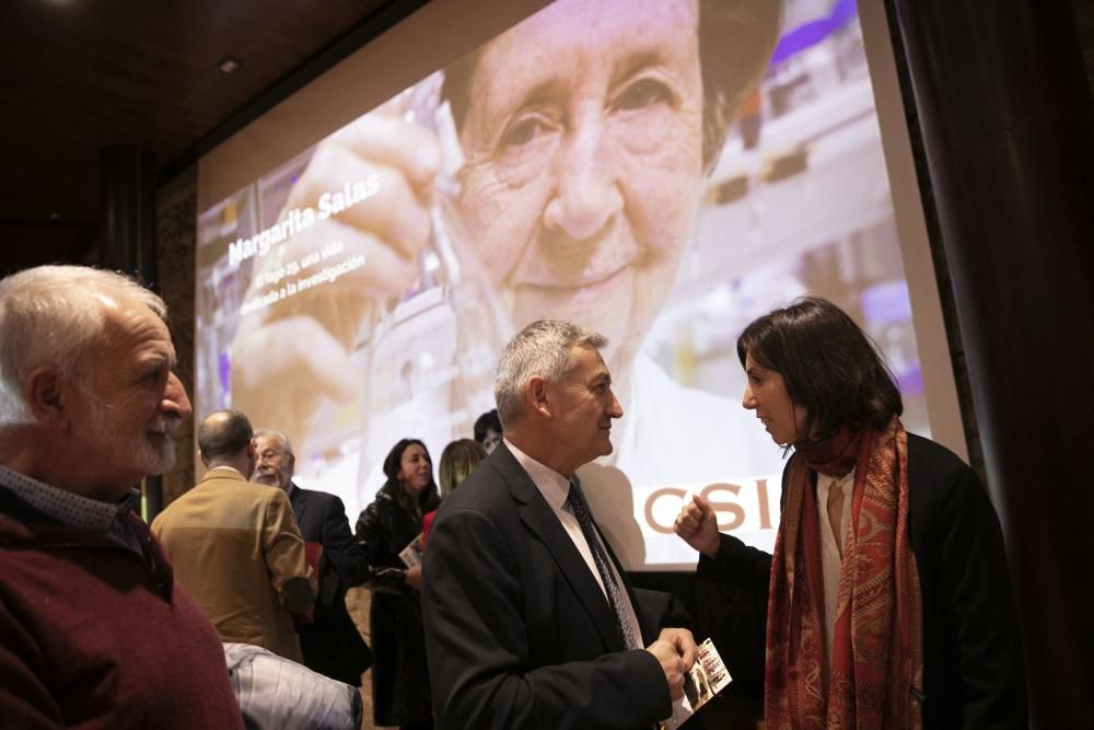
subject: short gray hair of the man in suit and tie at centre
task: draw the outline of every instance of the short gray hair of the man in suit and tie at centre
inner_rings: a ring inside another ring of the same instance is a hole
[[[503,428],[521,419],[524,385],[538,375],[548,383],[561,383],[572,367],[570,350],[578,345],[600,350],[607,338],[592,329],[561,320],[537,320],[516,333],[501,354],[493,397]]]

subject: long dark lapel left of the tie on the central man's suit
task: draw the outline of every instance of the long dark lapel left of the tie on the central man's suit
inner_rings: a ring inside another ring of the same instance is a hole
[[[513,499],[520,503],[517,512],[521,522],[536,540],[547,547],[547,552],[558,565],[559,571],[566,577],[570,588],[596,626],[597,633],[604,640],[604,646],[607,647],[608,651],[625,649],[615,613],[604,596],[604,591],[601,590],[600,583],[596,582],[596,578],[593,577],[570,535],[562,528],[562,523],[558,521],[558,517],[547,500],[539,494],[532,477],[524,471],[512,452],[505,448],[504,443],[498,444],[494,452],[490,454],[489,461],[509,486]]]

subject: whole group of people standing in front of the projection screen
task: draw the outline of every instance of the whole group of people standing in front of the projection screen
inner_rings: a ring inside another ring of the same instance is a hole
[[[0,335],[5,727],[360,727],[369,667],[377,726],[644,728],[684,696],[693,624],[631,584],[575,475],[624,416],[598,333],[524,327],[490,453],[449,444],[439,488],[424,443],[399,440],[356,535],[337,497],[293,484],[289,438],[235,410],[202,419],[205,477],[144,523],[135,486],[172,468],[190,404],[165,306],[133,280],[10,276]],[[700,578],[766,598],[767,726],[1025,727],[976,474],[905,431],[875,346],[830,302],[772,311],[737,350],[742,405],[793,451],[775,553],[719,532],[701,497],[675,530]],[[359,584],[371,650],[346,612]]]

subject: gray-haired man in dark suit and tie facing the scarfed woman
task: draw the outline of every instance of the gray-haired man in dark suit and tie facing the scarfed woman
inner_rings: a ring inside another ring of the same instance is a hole
[[[539,321],[505,347],[504,441],[444,500],[426,552],[439,728],[649,728],[683,695],[695,641],[666,627],[684,616],[630,586],[573,478],[622,416],[606,344]]]

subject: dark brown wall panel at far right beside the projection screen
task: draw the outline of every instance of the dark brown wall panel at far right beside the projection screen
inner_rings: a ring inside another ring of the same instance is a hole
[[[1078,10],[1089,19],[1085,5]],[[1094,611],[1085,432],[1094,101],[1076,8],[893,0],[891,11],[1019,595],[1032,719],[1094,727],[1094,656],[1084,640]]]

